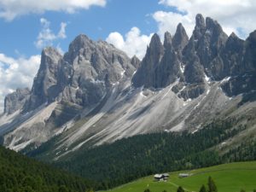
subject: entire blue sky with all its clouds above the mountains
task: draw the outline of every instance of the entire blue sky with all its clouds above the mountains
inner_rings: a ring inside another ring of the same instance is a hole
[[[64,53],[84,33],[143,59],[154,32],[162,39],[182,22],[190,36],[198,13],[247,38],[255,10],[254,0],[0,0],[0,113],[4,96],[32,87],[44,46]]]

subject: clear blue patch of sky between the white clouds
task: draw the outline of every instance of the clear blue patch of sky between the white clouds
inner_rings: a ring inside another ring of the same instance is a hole
[[[51,42],[54,46],[59,44],[66,51],[68,44],[80,33],[97,40],[106,39],[110,32],[125,35],[132,26],[139,26],[143,34],[157,32],[157,23],[151,15],[157,10],[170,9],[157,0],[109,0],[105,7],[80,9],[75,14],[48,11],[43,15],[21,15],[11,21],[2,19],[0,51],[15,58],[39,54],[41,49],[35,46],[35,42],[42,30],[41,18],[49,20],[49,28],[54,33],[59,32],[61,22],[67,23],[67,38]]]

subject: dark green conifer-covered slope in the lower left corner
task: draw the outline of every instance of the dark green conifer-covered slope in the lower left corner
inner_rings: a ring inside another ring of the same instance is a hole
[[[0,146],[0,192],[79,192],[91,183]]]

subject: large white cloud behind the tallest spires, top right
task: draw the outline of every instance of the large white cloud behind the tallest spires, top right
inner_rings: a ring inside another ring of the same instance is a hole
[[[195,26],[195,15],[198,13],[218,20],[225,32],[236,32],[241,38],[246,38],[249,32],[256,29],[254,0],[160,0],[159,3],[175,9],[172,12],[154,13],[153,17],[159,24],[161,35],[166,30],[175,32],[179,22],[183,23],[191,35]]]

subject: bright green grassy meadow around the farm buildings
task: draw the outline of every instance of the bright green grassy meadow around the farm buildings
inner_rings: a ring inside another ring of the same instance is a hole
[[[199,191],[202,184],[207,186],[209,176],[215,181],[218,192],[240,192],[245,189],[252,192],[256,189],[256,161],[223,164],[189,171],[190,177],[179,178],[178,173],[171,172],[167,182],[154,182],[153,176],[143,177],[132,183],[111,189],[111,192],[143,192],[149,188],[151,192],[177,191],[178,186],[192,192]],[[187,173],[187,172],[186,172]]]

